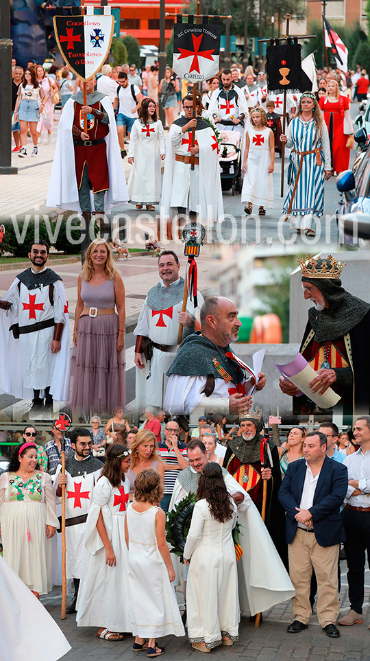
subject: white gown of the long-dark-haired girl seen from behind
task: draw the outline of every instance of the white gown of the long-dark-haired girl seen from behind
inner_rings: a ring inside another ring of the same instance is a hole
[[[190,559],[186,605],[190,642],[221,645],[221,637],[238,640],[240,608],[238,573],[232,539],[236,506],[229,521],[220,523],[205,498],[195,504],[184,557]]]

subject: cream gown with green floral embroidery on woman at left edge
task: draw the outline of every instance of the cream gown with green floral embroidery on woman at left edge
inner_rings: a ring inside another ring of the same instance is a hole
[[[29,590],[51,591],[51,540],[46,526],[59,528],[51,476],[36,472],[23,485],[15,473],[0,476],[3,558]]]

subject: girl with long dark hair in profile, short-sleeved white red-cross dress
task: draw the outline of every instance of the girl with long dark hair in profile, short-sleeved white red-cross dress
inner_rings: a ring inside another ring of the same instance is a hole
[[[130,450],[114,443],[93,492],[86,521],[85,557],[77,599],[77,627],[99,627],[98,638],[123,640],[131,631],[125,513]]]

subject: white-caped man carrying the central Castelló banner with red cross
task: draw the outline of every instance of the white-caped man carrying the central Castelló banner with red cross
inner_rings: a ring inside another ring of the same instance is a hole
[[[216,221],[223,216],[219,143],[210,123],[193,117],[193,95],[182,100],[184,117],[175,119],[169,130],[164,164],[161,216],[169,222],[176,213],[189,213],[199,222]],[[199,106],[196,106],[196,115]],[[192,129],[195,128],[195,143]],[[194,156],[194,169],[191,169]]]

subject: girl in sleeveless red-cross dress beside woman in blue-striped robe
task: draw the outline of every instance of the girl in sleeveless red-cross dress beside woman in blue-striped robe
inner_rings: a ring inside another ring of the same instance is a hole
[[[242,170],[245,172],[241,201],[247,216],[253,205],[259,205],[258,213],[266,216],[264,207],[273,207],[273,168],[275,142],[271,128],[267,126],[266,113],[254,108],[249,115],[251,126],[245,135],[245,150]]]

